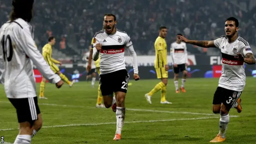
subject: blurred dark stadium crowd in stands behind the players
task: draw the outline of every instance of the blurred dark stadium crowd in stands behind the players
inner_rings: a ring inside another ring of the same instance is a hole
[[[8,20],[10,2],[0,1],[1,24]],[[224,34],[224,20],[230,16],[240,20],[240,35],[256,44],[254,19],[248,18],[250,12],[227,0],[36,0],[34,7],[32,24],[39,47],[54,35],[58,49],[87,49],[94,33],[102,28],[105,13],[116,15],[117,28],[128,32],[138,55],[154,52],[154,40],[161,25],[168,27],[168,45],[177,33],[190,39],[213,40]],[[196,48],[188,51],[204,52]]]

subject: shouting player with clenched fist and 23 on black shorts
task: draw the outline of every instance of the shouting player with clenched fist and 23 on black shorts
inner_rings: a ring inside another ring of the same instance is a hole
[[[120,140],[125,117],[124,98],[130,79],[126,70],[124,50],[127,49],[130,56],[132,56],[133,77],[135,80],[140,79],[137,55],[128,34],[116,29],[115,15],[105,14],[103,25],[104,30],[96,32],[94,36],[92,58],[96,61],[100,54],[100,90],[105,107],[112,106],[112,110],[116,112],[116,134],[114,140]],[[113,92],[116,98],[113,98]]]

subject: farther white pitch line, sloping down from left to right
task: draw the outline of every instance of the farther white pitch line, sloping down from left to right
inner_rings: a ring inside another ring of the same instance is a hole
[[[9,103],[6,101],[0,101],[4,103]],[[74,105],[66,105],[66,104],[47,104],[47,103],[38,103],[39,105],[48,105],[48,106],[64,106],[64,107],[77,107],[77,108],[95,108],[94,106],[74,106]],[[194,114],[194,115],[206,115],[206,116],[216,116],[216,114],[206,114],[206,113],[198,113],[198,112],[177,112],[177,111],[166,111],[166,110],[144,110],[144,109],[134,109],[134,108],[126,108],[126,110],[132,111],[144,111],[144,112],[163,112],[163,113],[176,113],[176,114]]]

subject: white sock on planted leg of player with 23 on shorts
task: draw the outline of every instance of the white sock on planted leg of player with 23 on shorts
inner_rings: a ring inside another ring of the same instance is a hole
[[[121,134],[124,126],[125,108],[116,107],[116,134]]]

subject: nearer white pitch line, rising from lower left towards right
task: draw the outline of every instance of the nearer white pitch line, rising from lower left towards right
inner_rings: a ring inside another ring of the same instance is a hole
[[[238,117],[238,116],[230,116]],[[204,120],[204,119],[211,119],[211,118],[219,118],[217,116],[212,117],[201,117],[201,118],[180,118],[180,119],[166,119],[166,120],[139,120],[139,121],[128,121],[125,122],[126,124],[131,123],[148,123],[148,122],[170,122],[170,121],[180,121],[180,120]],[[59,127],[68,127],[68,126],[98,126],[98,125],[106,125],[106,124],[116,124],[116,122],[103,122],[103,123],[94,123],[94,124],[66,124],[66,125],[56,125],[56,126],[43,126],[42,128],[59,128]],[[18,130],[14,128],[9,129],[2,129],[0,131],[10,131],[10,130]]]

